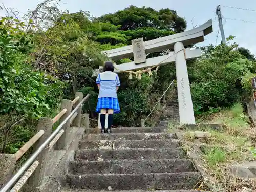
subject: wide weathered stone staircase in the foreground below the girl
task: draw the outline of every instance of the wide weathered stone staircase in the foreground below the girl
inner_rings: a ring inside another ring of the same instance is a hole
[[[69,162],[68,191],[189,191],[201,175],[166,127],[86,129]]]

